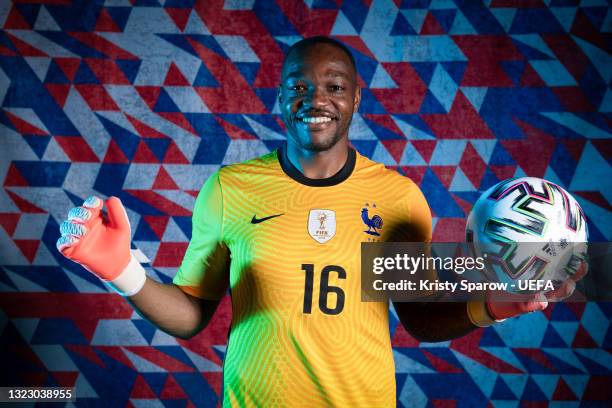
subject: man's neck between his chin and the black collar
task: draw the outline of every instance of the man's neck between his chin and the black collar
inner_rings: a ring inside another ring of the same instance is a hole
[[[348,158],[348,138],[344,137],[332,148],[313,152],[287,140],[287,158],[304,176],[310,179],[332,177],[342,169]]]

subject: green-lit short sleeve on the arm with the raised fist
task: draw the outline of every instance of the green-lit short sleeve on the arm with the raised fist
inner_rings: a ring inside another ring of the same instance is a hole
[[[229,285],[229,261],[223,242],[223,192],[216,172],[196,199],[191,241],[173,283],[192,296],[221,299]]]

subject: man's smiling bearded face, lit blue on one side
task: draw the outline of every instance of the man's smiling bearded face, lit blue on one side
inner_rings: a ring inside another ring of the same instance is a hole
[[[340,48],[319,43],[285,60],[279,103],[288,136],[298,147],[320,152],[348,137],[360,98],[355,70]]]

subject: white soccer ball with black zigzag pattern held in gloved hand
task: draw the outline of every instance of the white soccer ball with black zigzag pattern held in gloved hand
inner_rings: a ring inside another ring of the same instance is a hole
[[[507,282],[508,292],[533,294],[545,290],[530,281],[558,288],[577,272],[586,259],[587,222],[574,197],[555,183],[508,179],[476,201],[466,241],[486,260],[485,280]]]

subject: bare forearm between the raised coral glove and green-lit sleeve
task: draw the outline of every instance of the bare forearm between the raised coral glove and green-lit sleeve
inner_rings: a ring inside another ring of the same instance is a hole
[[[202,330],[218,304],[194,298],[176,285],[162,284],[150,277],[143,288],[127,300],[141,316],[180,338],[192,337]]]

